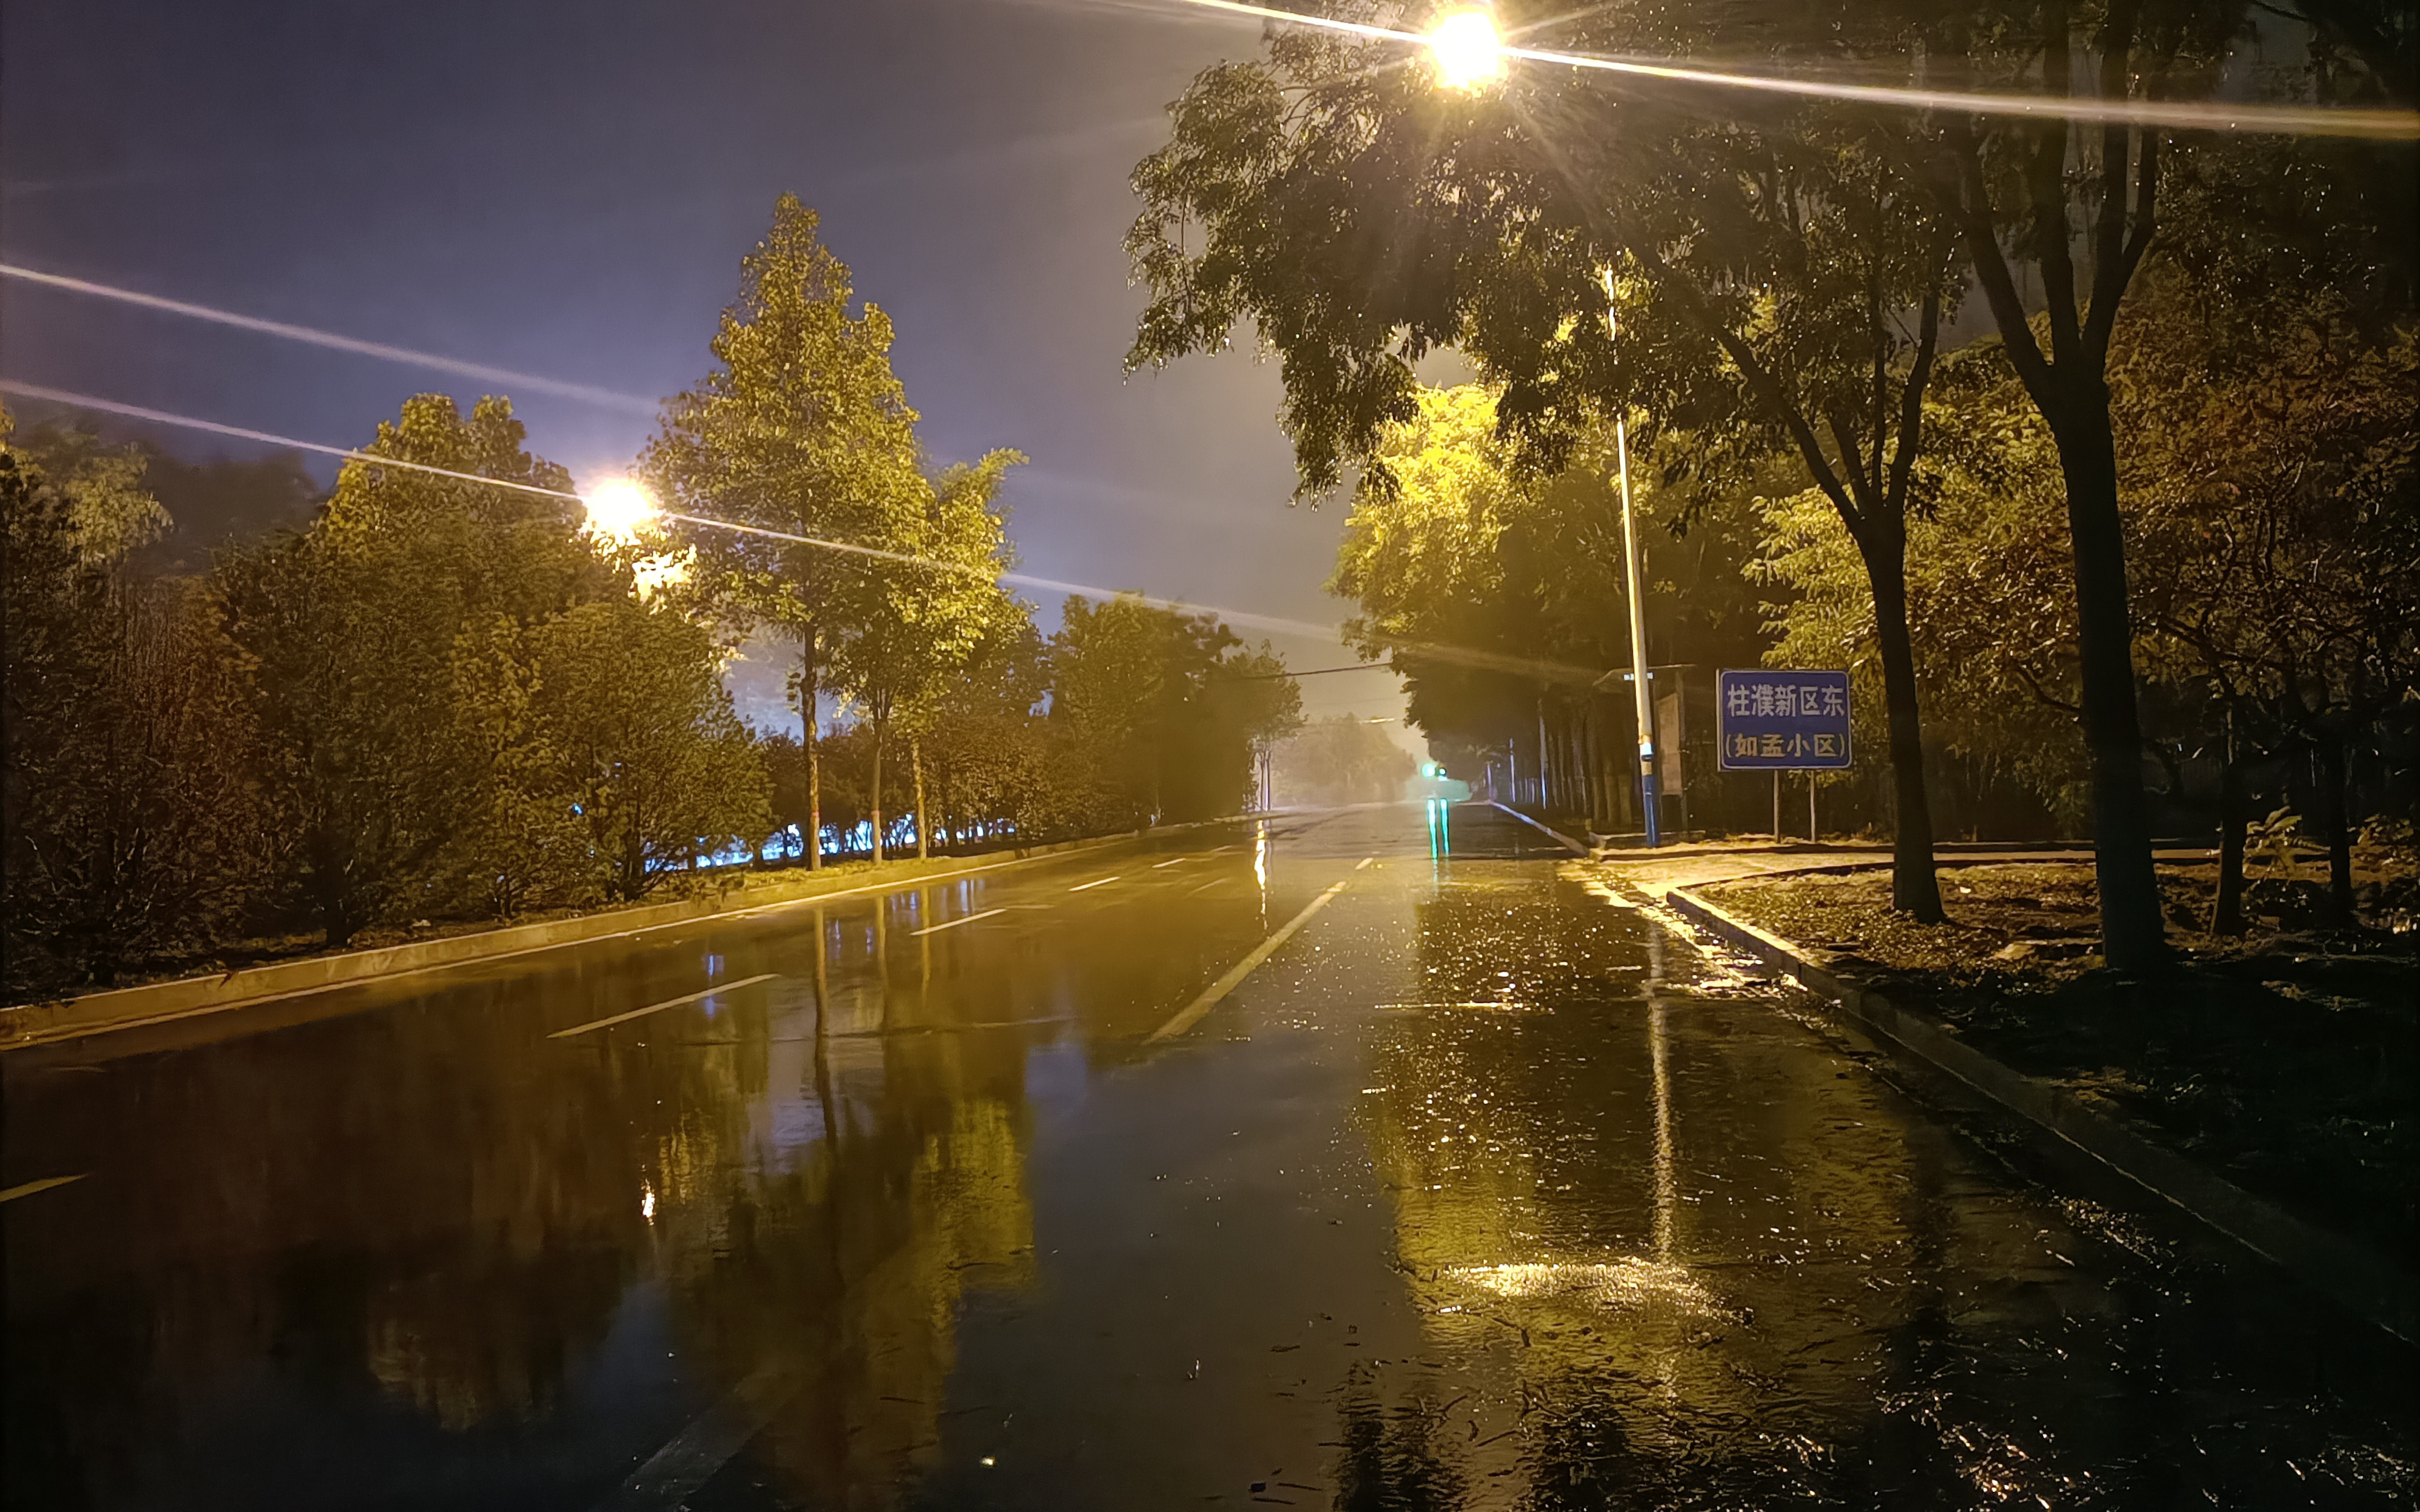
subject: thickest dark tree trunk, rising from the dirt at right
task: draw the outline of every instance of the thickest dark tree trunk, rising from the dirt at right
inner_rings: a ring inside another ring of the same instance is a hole
[[[2042,406],[2067,474],[2067,532],[2076,571],[2076,653],[2084,673],[2084,738],[2093,760],[2093,876],[2101,885],[2101,953],[2130,973],[2168,963],[2159,876],[2151,868],[2151,803],[2142,786],[2142,719],[2134,709],[2134,624],[2118,515],[2118,440],[2108,385],[2067,377],[2057,409]],[[2084,389],[2084,392],[2076,392]]]

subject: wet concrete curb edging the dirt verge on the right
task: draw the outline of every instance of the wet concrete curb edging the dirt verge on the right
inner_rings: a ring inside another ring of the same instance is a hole
[[[2403,1343],[2420,1343],[2420,1282],[2396,1270],[2384,1256],[2253,1198],[2214,1171],[2144,1139],[2064,1086],[1992,1060],[1938,1018],[1902,1009],[1880,992],[1832,975],[1788,941],[1704,898],[1692,898],[1689,888],[1672,888],[1665,893],[1665,902],[1692,924],[1834,999],[1859,1028],[2067,1139],[2154,1198],[2180,1207]]]

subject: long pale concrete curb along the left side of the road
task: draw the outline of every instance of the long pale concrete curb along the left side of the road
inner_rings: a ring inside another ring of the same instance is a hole
[[[450,965],[472,965],[482,960],[503,960],[508,956],[530,956],[535,951],[557,951],[564,946],[612,939],[617,934],[646,934],[675,924],[695,924],[699,919],[741,919],[748,914],[777,907],[796,907],[803,902],[825,902],[832,898],[854,898],[862,893],[893,893],[900,888],[920,888],[924,883],[941,883],[941,881],[956,881],[961,876],[975,876],[978,871],[999,871],[1004,866],[1021,866],[1028,861],[1065,856],[1070,852],[1082,852],[1082,849],[1140,844],[1159,835],[1179,835],[1183,830],[1200,830],[1208,825],[1234,825],[1234,823],[1246,823],[1249,818],[1256,815],[1244,815],[1237,820],[1200,820],[1193,825],[1166,825],[1159,830],[1140,830],[1133,835],[1096,835],[1091,839],[1062,839],[1058,844],[1036,844],[1014,852],[1009,856],[1002,856],[997,861],[983,861],[980,856],[970,856],[970,861],[975,861],[973,866],[958,866],[951,871],[878,876],[874,881],[852,888],[825,888],[820,883],[806,883],[801,873],[801,881],[782,881],[767,888],[757,888],[753,893],[741,890],[716,898],[685,898],[680,902],[622,907],[598,914],[578,914],[571,919],[547,919],[544,924],[513,924],[508,929],[482,929],[477,934],[455,934],[448,939],[416,941],[409,946],[385,946],[378,951],[346,951],[339,956],[307,956],[302,960],[278,960],[273,965],[254,965],[247,970],[232,970],[213,977],[177,977],[172,982],[145,982],[140,987],[116,987],[109,992],[85,992],[80,997],[17,1004],[0,1009],[0,1052],[27,1050],[31,1045],[51,1045],[58,1040],[75,1040],[97,1033],[111,1033],[121,1028],[145,1028],[152,1023],[169,1023],[177,1018],[194,1018],[198,1014],[220,1014],[227,1009],[244,1009],[254,1004],[281,1002],[288,997],[302,997],[307,992],[351,987],[356,982],[375,982],[424,970],[445,970]],[[782,893],[786,893],[786,898]]]

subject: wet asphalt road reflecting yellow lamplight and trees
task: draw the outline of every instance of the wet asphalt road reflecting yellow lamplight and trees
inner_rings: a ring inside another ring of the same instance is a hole
[[[10,1055],[7,1505],[2413,1502],[2408,1352],[1433,820]]]

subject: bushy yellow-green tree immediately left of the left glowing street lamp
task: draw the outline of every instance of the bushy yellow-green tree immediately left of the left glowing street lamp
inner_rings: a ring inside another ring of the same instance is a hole
[[[230,634],[257,665],[295,885],[332,946],[443,900],[436,861],[482,781],[457,731],[455,675],[479,665],[460,656],[465,631],[627,593],[578,537],[569,474],[523,450],[508,402],[465,419],[419,394],[365,450],[467,477],[346,462],[310,530],[218,571]]]

